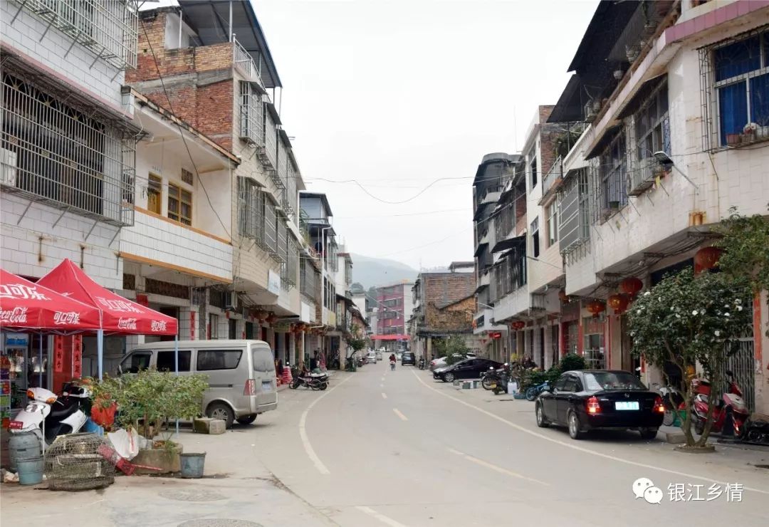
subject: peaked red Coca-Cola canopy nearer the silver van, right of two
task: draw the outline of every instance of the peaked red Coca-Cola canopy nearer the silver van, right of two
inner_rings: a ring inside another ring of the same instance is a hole
[[[70,299],[92,305],[102,312],[105,333],[121,335],[176,335],[175,318],[124,299],[94,282],[72,260],[65,259],[48,272],[39,285]]]

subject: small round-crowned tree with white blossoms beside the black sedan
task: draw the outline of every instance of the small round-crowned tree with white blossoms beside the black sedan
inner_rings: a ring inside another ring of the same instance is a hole
[[[751,289],[744,280],[725,273],[694,276],[693,270],[684,269],[666,275],[650,291],[642,293],[628,312],[633,355],[643,357],[662,372],[669,361],[681,372],[678,389],[686,401],[681,430],[688,447],[703,447],[710,435],[714,405],[724,385],[724,362],[751,327],[751,298]],[[691,379],[697,366],[711,382],[711,393],[704,431],[695,441],[691,433]]]

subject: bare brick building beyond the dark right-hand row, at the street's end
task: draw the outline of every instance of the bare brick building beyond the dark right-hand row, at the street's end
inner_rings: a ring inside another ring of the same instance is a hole
[[[452,335],[468,349],[481,352],[473,333],[475,262],[452,262],[448,272],[423,271],[411,288],[414,309],[409,319],[411,351],[429,361],[436,358],[435,341]]]

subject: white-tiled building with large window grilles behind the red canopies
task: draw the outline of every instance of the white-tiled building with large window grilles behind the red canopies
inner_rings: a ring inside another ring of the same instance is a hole
[[[70,258],[119,290],[121,233],[135,224],[141,127],[122,86],[136,65],[138,17],[128,0],[98,19],[90,5],[0,2],[0,258],[33,281]],[[50,357],[54,339],[27,340],[35,357],[38,345]],[[94,340],[82,351],[95,355]],[[47,370],[42,386],[58,389]]]

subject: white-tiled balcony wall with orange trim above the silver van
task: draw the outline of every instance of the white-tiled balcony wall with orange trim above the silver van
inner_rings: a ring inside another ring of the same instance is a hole
[[[178,265],[222,280],[232,279],[232,246],[143,212],[123,228],[120,250]]]

